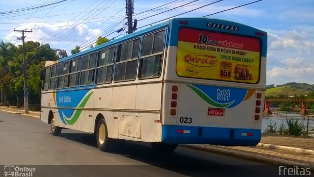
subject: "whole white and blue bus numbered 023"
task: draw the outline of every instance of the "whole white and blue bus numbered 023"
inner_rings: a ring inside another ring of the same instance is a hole
[[[234,22],[174,18],[47,61],[41,120],[116,139],[256,146],[261,140],[267,33]]]

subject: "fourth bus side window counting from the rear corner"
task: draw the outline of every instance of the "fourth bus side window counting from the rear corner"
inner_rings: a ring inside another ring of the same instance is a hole
[[[96,53],[83,56],[79,85],[92,85],[94,83],[95,62]]]

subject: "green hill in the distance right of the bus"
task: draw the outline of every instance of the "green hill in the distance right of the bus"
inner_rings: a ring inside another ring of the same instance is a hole
[[[277,85],[276,87],[274,84],[267,85],[265,97],[302,97],[304,95],[308,95],[311,92],[314,92],[314,85],[307,83],[289,82],[283,85]]]

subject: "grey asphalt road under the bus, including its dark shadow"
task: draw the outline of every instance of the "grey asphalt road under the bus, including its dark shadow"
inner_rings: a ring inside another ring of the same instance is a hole
[[[88,133],[63,129],[53,136],[39,119],[0,112],[0,166],[34,167],[33,177],[275,177],[278,166],[178,147],[160,153],[149,143],[126,141],[101,152]],[[32,166],[35,165],[35,166]],[[0,176],[3,168],[0,168]]]

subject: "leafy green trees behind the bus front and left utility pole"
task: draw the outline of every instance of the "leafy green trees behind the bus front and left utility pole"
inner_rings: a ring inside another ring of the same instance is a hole
[[[99,37],[96,46],[107,42],[105,37]],[[93,46],[90,46],[91,48]],[[41,80],[45,61],[56,61],[67,57],[64,49],[52,49],[49,44],[34,41],[25,42],[27,88],[29,90],[29,105],[40,107]],[[71,51],[78,53],[79,46]],[[17,108],[24,103],[23,54],[22,45],[0,41],[0,105],[16,105]],[[32,109],[32,106],[29,106]]]

